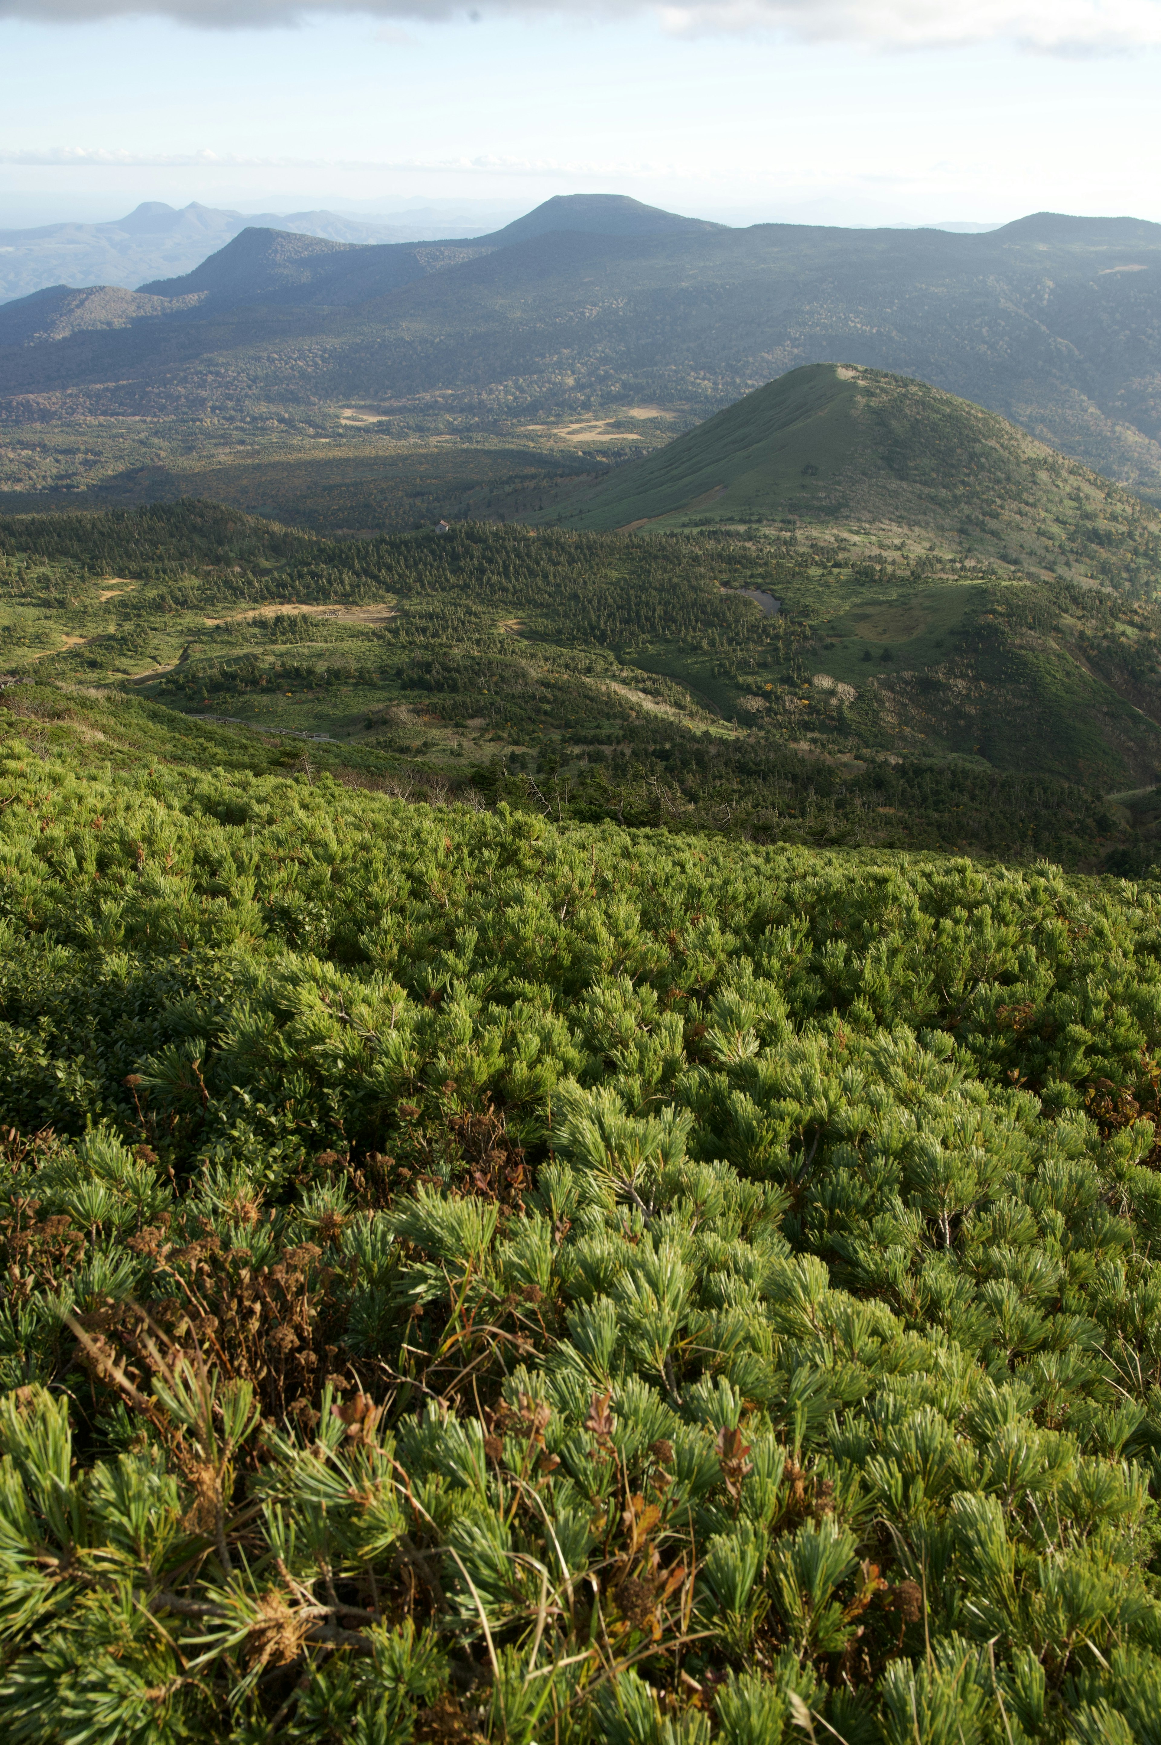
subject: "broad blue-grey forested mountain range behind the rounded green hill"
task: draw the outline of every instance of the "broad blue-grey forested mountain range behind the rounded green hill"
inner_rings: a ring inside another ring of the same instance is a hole
[[[136,293],[2,307],[0,417],[691,424],[826,358],[922,377],[1161,496],[1161,225],[1135,218],[739,230],[567,195],[454,241],[248,227]]]

